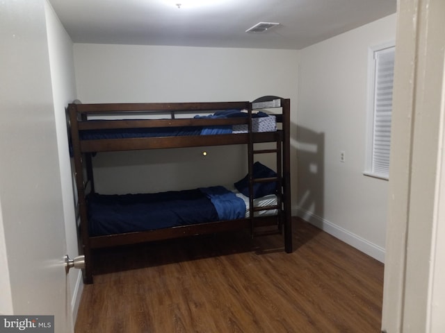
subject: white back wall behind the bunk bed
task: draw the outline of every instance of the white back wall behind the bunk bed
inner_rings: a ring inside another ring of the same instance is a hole
[[[286,50],[74,44],[76,87],[83,103],[252,101],[264,95],[282,96],[291,99],[294,119],[298,54]],[[97,190],[124,193],[229,185],[245,175],[244,148],[206,150],[209,154],[205,158],[202,148],[98,154]],[[147,162],[152,165],[146,167]]]

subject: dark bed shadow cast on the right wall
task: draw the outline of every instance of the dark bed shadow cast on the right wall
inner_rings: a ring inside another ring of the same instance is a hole
[[[325,134],[296,126],[297,214],[316,224],[324,216]]]

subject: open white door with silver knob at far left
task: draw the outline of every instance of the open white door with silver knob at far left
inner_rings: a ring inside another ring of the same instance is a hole
[[[9,273],[0,290],[3,309],[54,315],[64,333],[73,328],[45,1],[0,3],[0,258]]]

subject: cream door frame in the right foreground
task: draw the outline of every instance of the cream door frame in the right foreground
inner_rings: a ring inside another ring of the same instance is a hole
[[[445,1],[399,0],[382,332],[444,332]],[[442,252],[441,252],[442,251]],[[442,314],[439,313],[442,309]]]

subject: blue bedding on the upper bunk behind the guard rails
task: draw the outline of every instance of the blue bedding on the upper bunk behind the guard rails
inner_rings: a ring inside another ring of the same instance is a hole
[[[236,117],[248,117],[241,110],[221,110],[207,116],[197,115],[194,118],[227,119]],[[268,117],[265,112],[257,112],[252,117]],[[99,121],[99,120],[90,120]],[[80,138],[83,140],[95,139],[128,139],[136,137],[176,137],[185,135],[218,135],[231,134],[232,126],[184,126],[162,128],[113,128],[104,130],[82,130]]]

